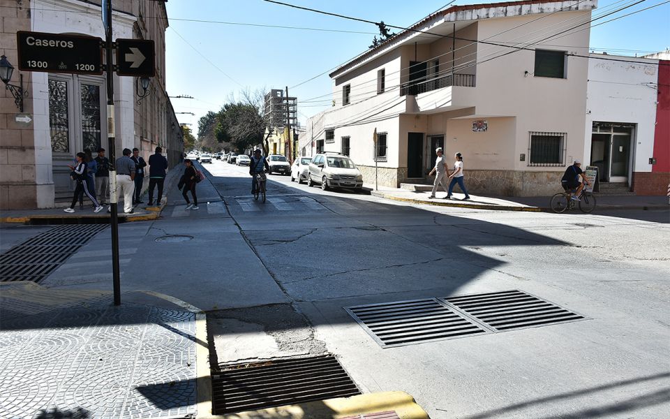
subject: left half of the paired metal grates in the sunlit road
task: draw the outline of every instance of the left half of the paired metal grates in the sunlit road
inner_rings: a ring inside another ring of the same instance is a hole
[[[368,304],[345,310],[380,346],[387,348],[487,332],[434,298]]]

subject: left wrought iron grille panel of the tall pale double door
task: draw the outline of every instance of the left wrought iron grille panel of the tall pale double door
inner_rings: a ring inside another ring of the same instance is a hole
[[[68,82],[64,80],[49,80],[49,128],[52,152],[69,153]]]

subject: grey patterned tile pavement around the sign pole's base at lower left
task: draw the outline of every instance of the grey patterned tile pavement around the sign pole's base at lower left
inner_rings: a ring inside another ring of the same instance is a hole
[[[195,416],[195,314],[142,293],[111,301],[0,286],[0,418]]]

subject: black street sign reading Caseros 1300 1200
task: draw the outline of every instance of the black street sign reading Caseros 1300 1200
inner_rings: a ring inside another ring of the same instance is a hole
[[[16,39],[21,71],[103,73],[101,38],[18,31]]]

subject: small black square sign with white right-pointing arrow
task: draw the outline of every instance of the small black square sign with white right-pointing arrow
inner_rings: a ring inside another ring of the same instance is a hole
[[[145,39],[117,39],[117,74],[134,77],[156,75],[154,41]]]

